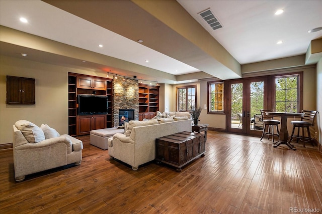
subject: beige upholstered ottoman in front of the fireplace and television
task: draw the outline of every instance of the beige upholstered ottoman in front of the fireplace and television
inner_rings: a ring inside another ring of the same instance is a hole
[[[108,149],[108,138],[116,133],[124,133],[124,129],[117,127],[92,130],[90,134],[91,144],[101,149]]]

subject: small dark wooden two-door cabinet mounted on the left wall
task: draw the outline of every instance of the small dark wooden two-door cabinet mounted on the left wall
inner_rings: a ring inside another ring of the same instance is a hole
[[[7,76],[7,104],[35,104],[36,81]]]

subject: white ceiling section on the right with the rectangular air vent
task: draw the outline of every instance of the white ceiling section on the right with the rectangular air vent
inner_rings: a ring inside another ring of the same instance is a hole
[[[322,1],[185,1],[178,2],[240,64],[304,54],[322,31]],[[212,30],[198,13],[210,8],[223,28]],[[274,15],[284,10],[281,15]],[[277,41],[283,44],[276,44]]]

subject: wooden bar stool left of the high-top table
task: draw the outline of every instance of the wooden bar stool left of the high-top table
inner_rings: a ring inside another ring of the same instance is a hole
[[[262,137],[260,140],[263,139],[264,135],[267,135],[267,139],[269,139],[270,136],[272,136],[272,141],[274,143],[274,136],[279,136],[279,130],[278,130],[278,124],[281,122],[279,120],[273,120],[273,116],[266,115],[266,112],[273,112],[274,110],[264,110],[261,109],[262,119],[263,119],[263,132]],[[277,134],[274,134],[274,126],[276,126]],[[268,128],[268,131],[266,131],[266,127]],[[271,130],[272,129],[272,133]]]

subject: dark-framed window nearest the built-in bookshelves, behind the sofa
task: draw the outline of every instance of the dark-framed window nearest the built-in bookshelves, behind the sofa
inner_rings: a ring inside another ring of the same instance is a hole
[[[177,87],[177,110],[189,111],[196,108],[196,86]]]

